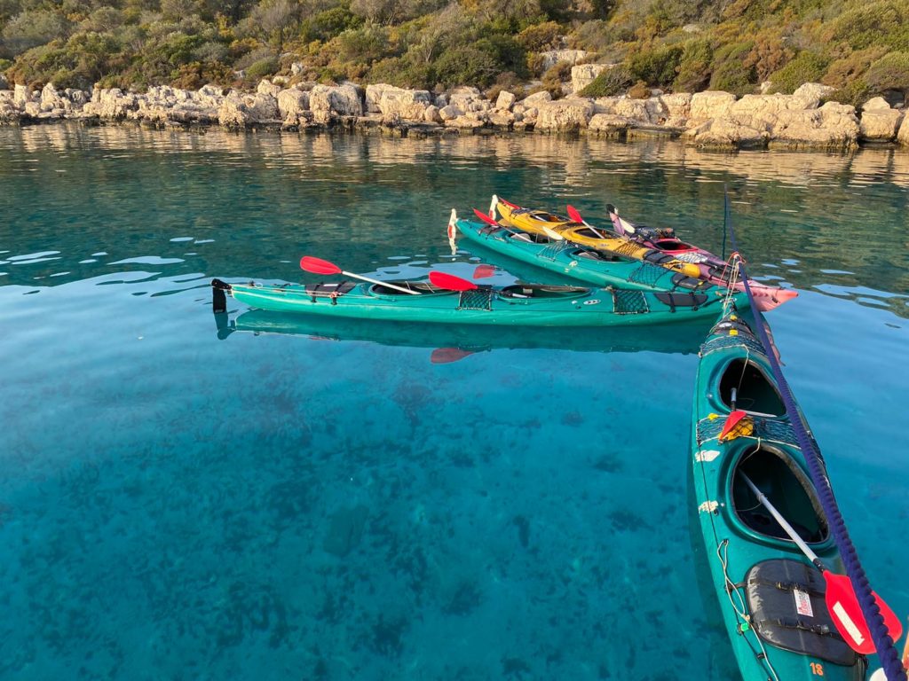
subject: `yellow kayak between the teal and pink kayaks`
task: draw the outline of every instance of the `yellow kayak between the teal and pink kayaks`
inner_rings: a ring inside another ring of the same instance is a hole
[[[682,262],[658,249],[643,246],[614,232],[594,229],[584,222],[574,222],[551,212],[522,208],[497,196],[493,197],[490,217],[494,218],[495,212],[501,216],[502,222],[523,232],[545,234],[547,229],[552,230],[561,234],[566,241],[597,251],[617,253],[633,260],[652,262],[667,270],[680,271],[688,277],[702,278],[701,269],[691,262]]]

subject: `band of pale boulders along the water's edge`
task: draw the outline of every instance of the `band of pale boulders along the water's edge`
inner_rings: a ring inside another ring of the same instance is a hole
[[[581,70],[584,66],[575,66]],[[576,74],[587,80],[589,74]],[[0,84],[2,85],[2,84]],[[583,86],[583,85],[582,85]],[[575,84],[574,89],[580,90]],[[0,124],[134,122],[155,127],[220,126],[228,130],[304,131],[340,128],[400,136],[484,133],[584,133],[614,139],[667,136],[698,147],[774,147],[845,150],[860,143],[909,146],[909,116],[883,98],[860,111],[823,103],[833,91],[804,84],[794,94],[724,92],[625,95],[553,100],[548,92],[519,99],[501,92],[495,101],[474,87],[445,94],[388,84],[293,84],[275,77],[255,92],[205,85],[197,91],[168,86],[145,94],[95,87],[91,92],[53,84],[0,89]]]

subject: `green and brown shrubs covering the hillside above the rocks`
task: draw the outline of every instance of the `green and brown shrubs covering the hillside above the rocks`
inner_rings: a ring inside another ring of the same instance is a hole
[[[555,48],[618,64],[590,95],[909,91],[905,0],[0,0],[0,71],[33,85],[249,85],[298,64],[296,80],[558,94]]]

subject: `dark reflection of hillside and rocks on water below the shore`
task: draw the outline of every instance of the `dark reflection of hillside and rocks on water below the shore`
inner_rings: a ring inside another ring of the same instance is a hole
[[[10,189],[0,208],[17,237],[15,252],[0,253],[0,276],[20,284],[58,285],[128,259],[295,281],[304,252],[339,252],[345,268],[375,271],[388,257],[377,234],[415,260],[438,262],[450,208],[484,208],[492,192],[553,209],[573,202],[601,222],[614,202],[637,222],[673,224],[719,251],[728,183],[755,273],[907,314],[909,153],[890,148],[710,153],[534,135],[401,140],[69,125],[6,129],[0,140]],[[34,186],[40,201],[14,201]],[[50,223],[49,238],[37,225]]]

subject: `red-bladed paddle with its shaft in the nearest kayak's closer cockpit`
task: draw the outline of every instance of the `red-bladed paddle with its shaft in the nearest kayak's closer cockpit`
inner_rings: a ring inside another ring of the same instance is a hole
[[[742,476],[745,484],[754,492],[754,496],[757,497],[757,500],[764,505],[764,508],[770,511],[770,514],[776,519],[776,522],[780,524],[780,527],[784,529],[784,532],[789,535],[789,538],[795,542],[795,545],[798,546],[798,548],[802,549],[802,553],[804,553],[805,557],[814,564],[815,568],[821,571],[821,574],[824,576],[824,581],[827,583],[824,601],[827,604],[827,609],[830,610],[830,617],[833,617],[834,625],[843,636],[845,642],[856,653],[860,653],[861,655],[870,655],[874,653],[874,641],[871,640],[871,631],[864,621],[862,608],[858,604],[858,597],[855,596],[855,590],[849,577],[846,577],[845,575],[835,575],[828,570],[824,563],[821,562],[821,559],[817,558],[814,554],[814,551],[808,548],[808,545],[804,543],[804,540],[798,536],[792,525],[783,518],[780,512],[774,508],[774,505],[770,503],[770,500],[764,496],[764,493],[760,489],[757,489],[754,482],[752,482],[741,470],[739,471],[739,475]],[[874,596],[874,600],[877,602],[877,607],[881,610],[881,617],[884,617],[884,626],[887,627],[890,637],[893,638],[894,641],[897,640],[903,635],[903,623],[897,619],[894,615],[894,611],[884,603],[883,598],[879,597],[874,592],[872,592],[872,596]]]

